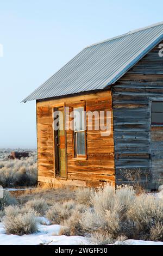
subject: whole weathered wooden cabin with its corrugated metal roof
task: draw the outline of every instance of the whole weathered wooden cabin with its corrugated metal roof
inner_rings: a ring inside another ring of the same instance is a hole
[[[40,184],[139,179],[154,190],[163,179],[163,22],[84,48],[23,102],[30,100],[36,100]],[[63,117],[57,131],[55,111]],[[77,111],[84,113],[80,125]],[[90,129],[87,113],[94,112]],[[110,132],[96,129],[101,120]]]

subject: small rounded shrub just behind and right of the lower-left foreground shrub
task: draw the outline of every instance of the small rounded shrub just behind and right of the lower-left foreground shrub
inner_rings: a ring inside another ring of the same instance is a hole
[[[25,207],[27,209],[34,209],[41,216],[45,215],[45,213],[48,209],[48,205],[47,205],[45,199],[41,199],[41,198],[28,201],[25,204]]]

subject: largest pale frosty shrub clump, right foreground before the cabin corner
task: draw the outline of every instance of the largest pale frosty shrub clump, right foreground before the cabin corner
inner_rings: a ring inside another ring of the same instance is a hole
[[[80,218],[85,233],[107,233],[114,240],[122,234],[130,239],[162,240],[163,201],[149,194],[137,196],[133,187],[100,187],[91,196],[91,207]]]

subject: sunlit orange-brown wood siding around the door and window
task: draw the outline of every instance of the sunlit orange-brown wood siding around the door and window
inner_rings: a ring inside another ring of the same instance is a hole
[[[73,133],[66,131],[67,180],[54,178],[54,147],[52,107],[65,103],[70,109],[85,100],[86,111],[111,111],[111,91],[71,96],[49,101],[37,101],[37,154],[40,182],[64,183],[67,185],[97,186],[104,181],[115,182],[114,139],[111,114],[111,134],[101,136],[101,131],[86,132],[87,159],[73,157]],[[88,120],[87,120],[88,125]]]

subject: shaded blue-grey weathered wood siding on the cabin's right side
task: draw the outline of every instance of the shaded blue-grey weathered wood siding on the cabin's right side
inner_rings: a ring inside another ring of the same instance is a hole
[[[163,42],[161,42],[163,43]],[[151,101],[163,101],[163,57],[159,45],[112,87],[116,183],[126,170],[140,170],[148,188],[163,174],[163,127],[151,128]]]

